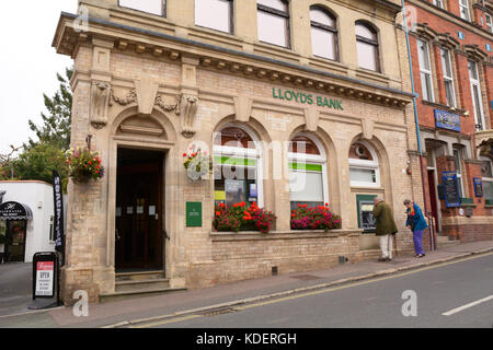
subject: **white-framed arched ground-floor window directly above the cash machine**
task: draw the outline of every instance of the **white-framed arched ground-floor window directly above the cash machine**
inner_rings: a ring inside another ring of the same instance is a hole
[[[353,143],[349,149],[351,186],[380,187],[380,170],[377,154],[364,141]]]

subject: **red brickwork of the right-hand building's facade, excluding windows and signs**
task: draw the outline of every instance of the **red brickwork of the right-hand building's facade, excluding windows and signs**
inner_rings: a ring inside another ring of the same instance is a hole
[[[422,171],[424,173],[425,210],[440,221],[439,231],[465,242],[493,238],[493,217],[486,206],[485,196],[477,197],[473,178],[481,178],[480,155],[491,159],[492,138],[478,139],[478,131],[493,129],[493,35],[486,26],[485,14],[492,14],[492,1],[469,0],[470,21],[461,19],[459,0],[443,1],[439,9],[433,1],[408,0],[408,13],[412,15],[410,31],[411,58],[415,91],[419,95],[417,114],[424,153]],[[422,74],[417,39],[427,43],[433,84],[433,101],[423,100]],[[455,107],[447,105],[446,86],[440,49],[450,54],[452,70]],[[474,103],[468,62],[478,67],[482,100],[483,128],[478,128],[474,118]],[[436,126],[435,109],[460,115],[460,131],[446,130]],[[484,132],[482,135],[484,135]],[[486,132],[488,133],[488,132]],[[486,147],[484,147],[486,144]],[[481,145],[481,149],[479,148]],[[456,168],[456,154],[460,154],[460,168]],[[428,153],[432,153],[428,154]],[[428,155],[428,156],[426,156]],[[433,158],[434,164],[427,164]],[[483,159],[484,160],[484,159]],[[460,208],[446,208],[445,201],[431,194],[429,183],[442,184],[445,171],[458,171],[462,180],[462,205]],[[433,176],[433,178],[429,178]],[[436,209],[433,208],[436,197]],[[471,215],[472,209],[472,215]],[[434,212],[433,212],[434,211]],[[425,245],[428,245],[425,235]]]

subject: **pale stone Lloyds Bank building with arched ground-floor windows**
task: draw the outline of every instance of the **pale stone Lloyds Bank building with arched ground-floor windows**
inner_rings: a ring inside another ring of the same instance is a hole
[[[412,249],[402,202],[423,191],[400,1],[79,5],[54,47],[74,61],[72,147],[91,135],[105,176],[68,186],[66,302],[375,258],[375,196],[393,208],[397,250]],[[190,148],[214,175],[187,176]],[[268,234],[214,231],[231,188],[277,217]],[[293,208],[325,202],[341,230],[290,229]]]

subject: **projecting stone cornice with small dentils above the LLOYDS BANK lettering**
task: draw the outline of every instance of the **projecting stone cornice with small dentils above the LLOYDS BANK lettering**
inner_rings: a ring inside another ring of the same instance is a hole
[[[89,31],[77,33],[72,23],[76,18],[69,13],[61,14],[53,43],[58,54],[74,57],[74,52],[81,45],[81,35],[83,35],[82,43],[90,42],[92,37],[102,37],[115,40],[117,49],[133,50],[139,55],[153,55],[174,61],[177,61],[184,54],[194,56],[199,59],[203,69],[227,71],[249,78],[326,91],[349,98],[365,100],[369,103],[398,108],[405,107],[412,101],[412,94],[401,90],[105,20],[90,18]]]

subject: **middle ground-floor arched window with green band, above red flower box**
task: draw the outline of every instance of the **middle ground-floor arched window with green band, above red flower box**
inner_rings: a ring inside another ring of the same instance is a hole
[[[291,210],[298,205],[316,207],[328,202],[326,156],[318,140],[297,135],[289,142],[288,161]]]

